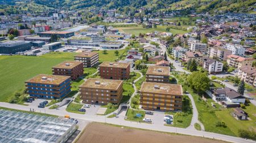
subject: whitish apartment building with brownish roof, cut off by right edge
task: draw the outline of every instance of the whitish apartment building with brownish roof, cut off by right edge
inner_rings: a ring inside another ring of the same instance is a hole
[[[245,83],[256,87],[256,68],[251,66],[243,66],[238,70],[238,77]]]

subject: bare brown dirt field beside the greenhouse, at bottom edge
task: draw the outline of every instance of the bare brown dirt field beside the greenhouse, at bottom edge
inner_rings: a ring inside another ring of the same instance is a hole
[[[225,141],[210,140],[208,138],[172,135],[154,131],[144,131],[141,129],[130,129],[114,127],[101,123],[90,123],[86,126],[84,133],[77,143],[149,143],[149,142],[175,142],[175,143],[224,143]]]

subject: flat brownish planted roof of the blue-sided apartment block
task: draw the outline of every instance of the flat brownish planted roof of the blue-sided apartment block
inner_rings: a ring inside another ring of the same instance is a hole
[[[27,80],[26,83],[59,85],[69,78],[70,76],[40,74]]]

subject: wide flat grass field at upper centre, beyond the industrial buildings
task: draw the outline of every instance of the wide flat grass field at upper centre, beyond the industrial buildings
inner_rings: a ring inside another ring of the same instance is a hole
[[[119,31],[122,31],[125,33],[130,33],[130,34],[135,34],[135,36],[138,36],[139,33],[148,33],[148,32],[154,32],[154,31],[166,32],[166,27],[167,26],[158,25],[157,28],[143,28],[141,26],[138,26],[138,27],[118,27],[117,29]],[[170,29],[170,32],[174,35],[187,33],[186,31],[172,29],[172,28]]]

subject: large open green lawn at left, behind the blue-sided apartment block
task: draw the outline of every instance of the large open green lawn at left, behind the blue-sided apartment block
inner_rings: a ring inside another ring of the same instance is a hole
[[[73,55],[75,53],[48,53],[40,57],[0,56],[0,101],[8,102],[15,92],[23,92],[24,81],[40,73],[51,74],[52,66],[73,60]]]

